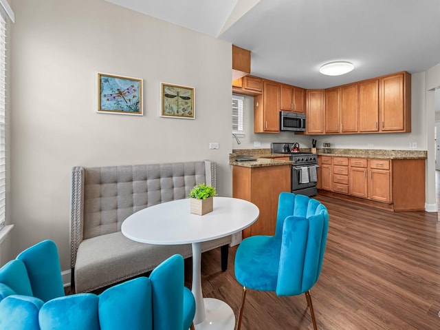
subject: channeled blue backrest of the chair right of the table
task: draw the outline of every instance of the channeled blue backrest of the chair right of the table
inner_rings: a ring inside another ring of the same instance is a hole
[[[276,234],[281,236],[276,293],[298,295],[311,289],[320,276],[329,213],[318,200],[281,193],[276,225]]]

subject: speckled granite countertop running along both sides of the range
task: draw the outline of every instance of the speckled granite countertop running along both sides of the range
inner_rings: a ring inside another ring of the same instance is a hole
[[[300,148],[300,152],[310,152],[309,148]],[[426,159],[426,150],[392,150],[392,149],[330,149],[330,153],[325,153],[324,149],[317,149],[316,153],[320,156],[340,156],[340,157],[360,157],[378,159]],[[254,156],[256,161],[235,161],[236,156]],[[276,158],[288,157],[289,154],[272,154],[272,149],[234,149],[229,154],[230,165],[243,167],[265,167],[276,165],[293,165],[294,161],[281,161]],[[266,158],[265,158],[266,157]]]

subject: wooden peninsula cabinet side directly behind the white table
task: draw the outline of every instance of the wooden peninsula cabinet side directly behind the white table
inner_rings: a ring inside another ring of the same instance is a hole
[[[274,235],[278,195],[290,192],[291,165],[232,166],[232,197],[249,200],[260,209],[258,220],[243,230],[243,238]]]

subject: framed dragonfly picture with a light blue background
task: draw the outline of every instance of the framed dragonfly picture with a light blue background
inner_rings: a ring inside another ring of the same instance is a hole
[[[98,72],[98,112],[142,116],[142,79]]]

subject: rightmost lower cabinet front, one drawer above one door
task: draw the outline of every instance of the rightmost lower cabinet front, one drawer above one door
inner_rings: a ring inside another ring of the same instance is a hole
[[[391,202],[391,161],[369,159],[369,199]]]

